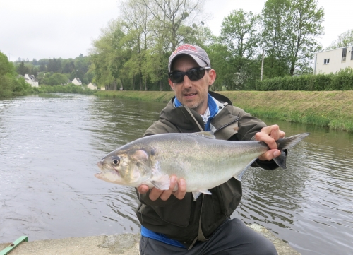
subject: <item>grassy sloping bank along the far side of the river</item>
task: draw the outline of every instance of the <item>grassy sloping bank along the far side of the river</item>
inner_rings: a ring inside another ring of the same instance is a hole
[[[233,105],[268,117],[353,132],[353,91],[223,91]],[[100,91],[95,95],[168,102],[172,91]]]

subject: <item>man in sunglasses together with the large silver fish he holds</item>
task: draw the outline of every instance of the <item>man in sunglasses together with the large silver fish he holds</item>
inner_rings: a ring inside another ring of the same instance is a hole
[[[216,78],[208,54],[181,45],[169,57],[175,97],[139,138],[98,162],[95,177],[136,187],[140,254],[277,254],[273,243],[230,216],[249,166],[286,168],[285,137],[230,100],[208,91]],[[233,178],[234,177],[234,178]]]

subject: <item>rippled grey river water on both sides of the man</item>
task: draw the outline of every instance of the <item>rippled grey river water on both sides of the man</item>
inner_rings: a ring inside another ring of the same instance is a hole
[[[102,182],[97,161],[143,135],[165,104],[87,95],[0,100],[0,242],[139,231],[132,188]],[[273,231],[301,254],[353,254],[353,134],[311,135],[287,170],[250,168],[232,215]]]

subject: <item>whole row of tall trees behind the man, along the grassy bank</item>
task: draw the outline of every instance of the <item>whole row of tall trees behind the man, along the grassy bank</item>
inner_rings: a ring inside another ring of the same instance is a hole
[[[94,81],[108,89],[169,90],[167,63],[182,43],[203,47],[217,72],[213,90],[254,89],[263,78],[311,73],[321,49],[316,0],[267,0],[261,13],[234,10],[220,36],[207,27],[205,0],[125,0],[90,50]],[[263,54],[264,53],[264,54]]]

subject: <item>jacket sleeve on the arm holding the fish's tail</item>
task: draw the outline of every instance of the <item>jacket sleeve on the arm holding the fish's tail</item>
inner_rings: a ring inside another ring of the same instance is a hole
[[[237,138],[239,141],[249,141],[254,140],[255,134],[260,132],[261,129],[267,126],[263,121],[256,117],[252,117],[249,113],[244,112],[243,109],[234,107],[234,114],[239,117],[238,126],[239,130],[237,133]],[[287,153],[286,153],[287,155]],[[264,170],[275,170],[278,165],[273,160],[259,160],[257,159],[252,167],[261,167]]]

